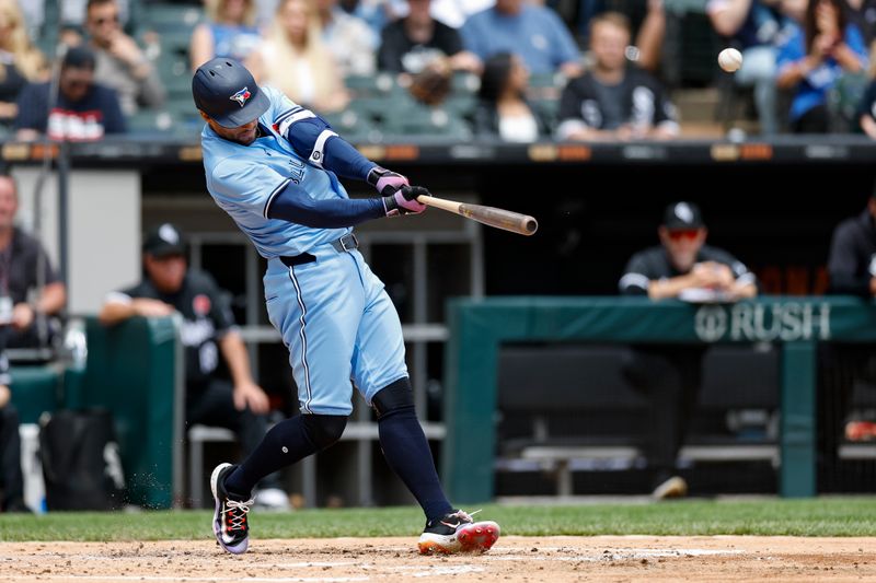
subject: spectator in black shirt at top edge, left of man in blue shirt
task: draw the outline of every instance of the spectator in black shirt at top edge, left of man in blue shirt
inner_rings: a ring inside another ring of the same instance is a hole
[[[407,0],[403,19],[383,28],[378,68],[393,73],[417,74],[436,58],[449,58],[454,70],[480,72],[481,62],[464,49],[459,31],[435,20],[431,0]]]

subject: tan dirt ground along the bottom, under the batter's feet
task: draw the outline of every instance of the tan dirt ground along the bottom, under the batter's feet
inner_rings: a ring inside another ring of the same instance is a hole
[[[2,533],[0,533],[2,536]],[[514,537],[483,556],[422,557],[410,538],[5,543],[3,582],[876,581],[876,539]]]

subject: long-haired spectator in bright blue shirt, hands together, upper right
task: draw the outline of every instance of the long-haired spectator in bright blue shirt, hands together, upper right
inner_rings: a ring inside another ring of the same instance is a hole
[[[863,73],[867,68],[867,48],[861,31],[849,23],[843,0],[811,0],[806,8],[804,27],[779,49],[780,89],[793,90],[788,118],[795,133],[849,131],[848,121],[839,119],[828,104],[828,95],[849,75],[861,82],[854,102],[863,94]]]

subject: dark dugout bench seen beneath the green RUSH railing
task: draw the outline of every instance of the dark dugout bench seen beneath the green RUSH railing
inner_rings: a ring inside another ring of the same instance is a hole
[[[779,467],[777,357],[772,345],[705,352],[692,415],[702,427],[691,427],[679,452],[683,464],[758,460]],[[619,345],[502,347],[496,471],[552,474],[556,494],[569,497],[576,469],[643,465],[650,401],[624,377],[627,359],[629,349]],[[748,419],[739,434],[726,430],[727,415]]]

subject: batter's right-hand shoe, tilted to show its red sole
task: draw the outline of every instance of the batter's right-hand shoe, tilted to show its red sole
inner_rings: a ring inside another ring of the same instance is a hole
[[[477,511],[481,512],[481,511]],[[499,538],[499,525],[492,521],[474,522],[461,510],[426,523],[419,535],[419,552],[486,552]]]

